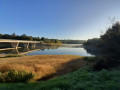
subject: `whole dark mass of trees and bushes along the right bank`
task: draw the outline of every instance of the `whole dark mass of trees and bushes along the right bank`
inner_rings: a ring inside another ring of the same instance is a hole
[[[84,46],[93,46],[102,57],[95,69],[119,67],[120,65],[120,23],[116,22],[99,39],[91,39]],[[91,47],[90,47],[91,48]],[[89,50],[89,49],[87,49]],[[89,50],[92,52],[92,50]],[[93,51],[94,52],[94,51]]]

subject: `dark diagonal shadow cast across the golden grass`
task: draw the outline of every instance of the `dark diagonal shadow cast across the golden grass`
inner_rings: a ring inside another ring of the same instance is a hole
[[[87,66],[87,65],[92,66],[94,64],[95,64],[95,62],[88,62],[88,61],[84,60],[84,58],[72,60],[70,62],[62,64],[62,66],[61,66],[62,68],[58,69],[56,71],[56,73],[42,77],[41,79],[38,79],[37,81],[46,81],[46,80],[52,79],[54,77],[65,75],[69,72],[76,71],[77,69],[80,69],[84,66]]]

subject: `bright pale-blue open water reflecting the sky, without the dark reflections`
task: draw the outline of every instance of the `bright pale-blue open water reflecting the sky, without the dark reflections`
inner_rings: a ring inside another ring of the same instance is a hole
[[[56,49],[44,49],[35,52],[28,53],[27,55],[80,55],[80,56],[92,56],[81,47],[81,44],[66,44],[64,47]]]

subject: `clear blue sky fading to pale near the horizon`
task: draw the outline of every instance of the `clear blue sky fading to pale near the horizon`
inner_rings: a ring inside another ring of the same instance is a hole
[[[0,33],[87,40],[120,21],[120,0],[0,0]]]

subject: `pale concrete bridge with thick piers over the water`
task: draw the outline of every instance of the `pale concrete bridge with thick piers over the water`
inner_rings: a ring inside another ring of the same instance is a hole
[[[27,41],[27,40],[13,40],[13,39],[0,39],[0,44],[3,43],[9,43],[11,45],[11,48],[17,49],[20,44],[22,44],[22,47],[35,47],[36,44],[42,43],[42,41]],[[4,46],[4,44],[3,44]],[[9,48],[9,49],[11,49]]]

